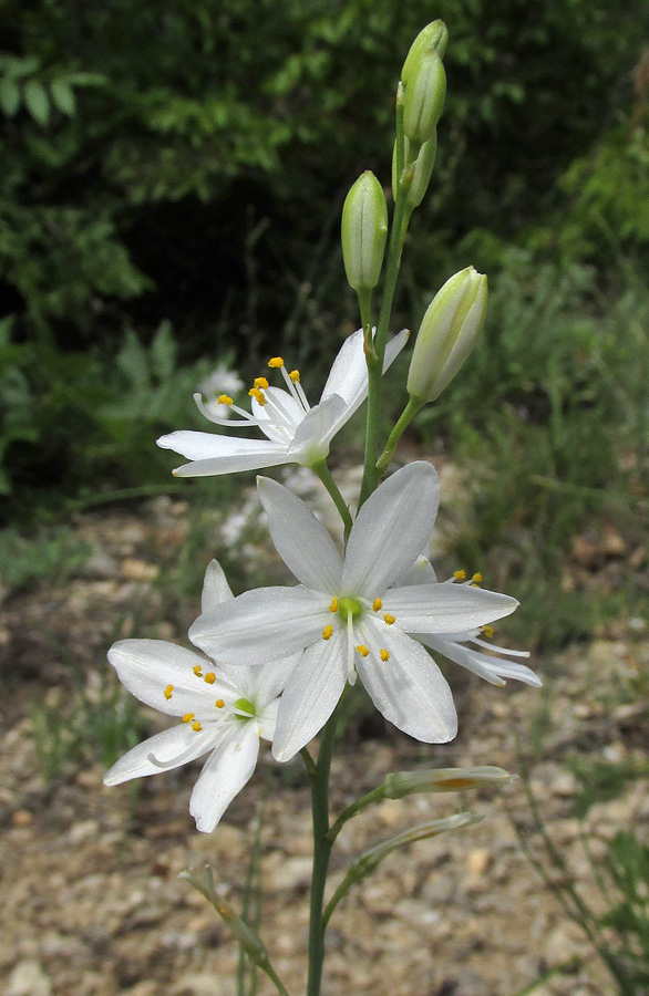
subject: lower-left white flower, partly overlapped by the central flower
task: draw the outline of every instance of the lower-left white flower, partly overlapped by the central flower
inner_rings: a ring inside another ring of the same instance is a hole
[[[233,600],[223,570],[213,560],[205,574],[203,611]],[[109,661],[141,702],[168,716],[182,716],[183,722],[124,755],[104,785],[177,768],[212,751],[189,802],[196,828],[209,833],[251,777],[259,737],[272,739],[278,696],[297,658],[264,667],[217,667],[163,640],[120,640],[109,651]]]

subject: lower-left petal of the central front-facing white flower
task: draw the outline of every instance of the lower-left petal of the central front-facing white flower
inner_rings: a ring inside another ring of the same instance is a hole
[[[319,640],[296,665],[279,701],[272,754],[289,760],[324,726],[347,682],[347,634]]]

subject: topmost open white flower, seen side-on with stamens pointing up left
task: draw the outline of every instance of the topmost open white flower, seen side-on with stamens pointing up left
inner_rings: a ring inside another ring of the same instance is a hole
[[[384,370],[405,345],[408,330],[392,339],[385,349]],[[175,432],[161,436],[157,445],[173,449],[190,460],[174,470],[176,477],[207,477],[236,470],[256,470],[279,464],[312,466],[324,459],[336,433],[351,418],[368,394],[368,371],[363,352],[363,332],[359,329],[342,344],[322,391],[320,403],[309,405],[297,370],[288,373],[281,356],[268,364],[280,370],[287,390],[270,387],[266,377],[257,377],[250,390],[251,413],[238,407],[231,397],[220,395],[239,419],[222,418],[203,402],[194,400],[200,412],[216,425],[261,429],[266,439],[236,438],[213,433]]]

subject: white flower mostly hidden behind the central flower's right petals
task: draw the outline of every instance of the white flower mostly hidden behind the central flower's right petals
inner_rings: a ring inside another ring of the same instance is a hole
[[[442,584],[451,584],[462,581],[464,571],[457,571],[447,581]],[[475,581],[466,581],[464,583],[478,583],[482,578],[474,575]],[[416,563],[403,574],[398,584],[435,584],[437,578],[432,563],[425,557],[420,557]],[[543,682],[540,678],[525,664],[517,664],[515,661],[503,660],[503,656],[493,656],[502,654],[505,657],[528,657],[528,651],[514,651],[506,646],[497,646],[494,643],[487,643],[483,636],[492,635],[491,626],[477,626],[465,630],[461,633],[418,633],[415,640],[423,643],[430,650],[443,654],[454,664],[460,664],[477,674],[478,677],[490,682],[492,685],[504,685],[505,678],[515,678],[524,682],[526,685],[534,685],[540,688]],[[475,650],[478,647],[478,650]],[[488,653],[484,653],[488,651]]]

